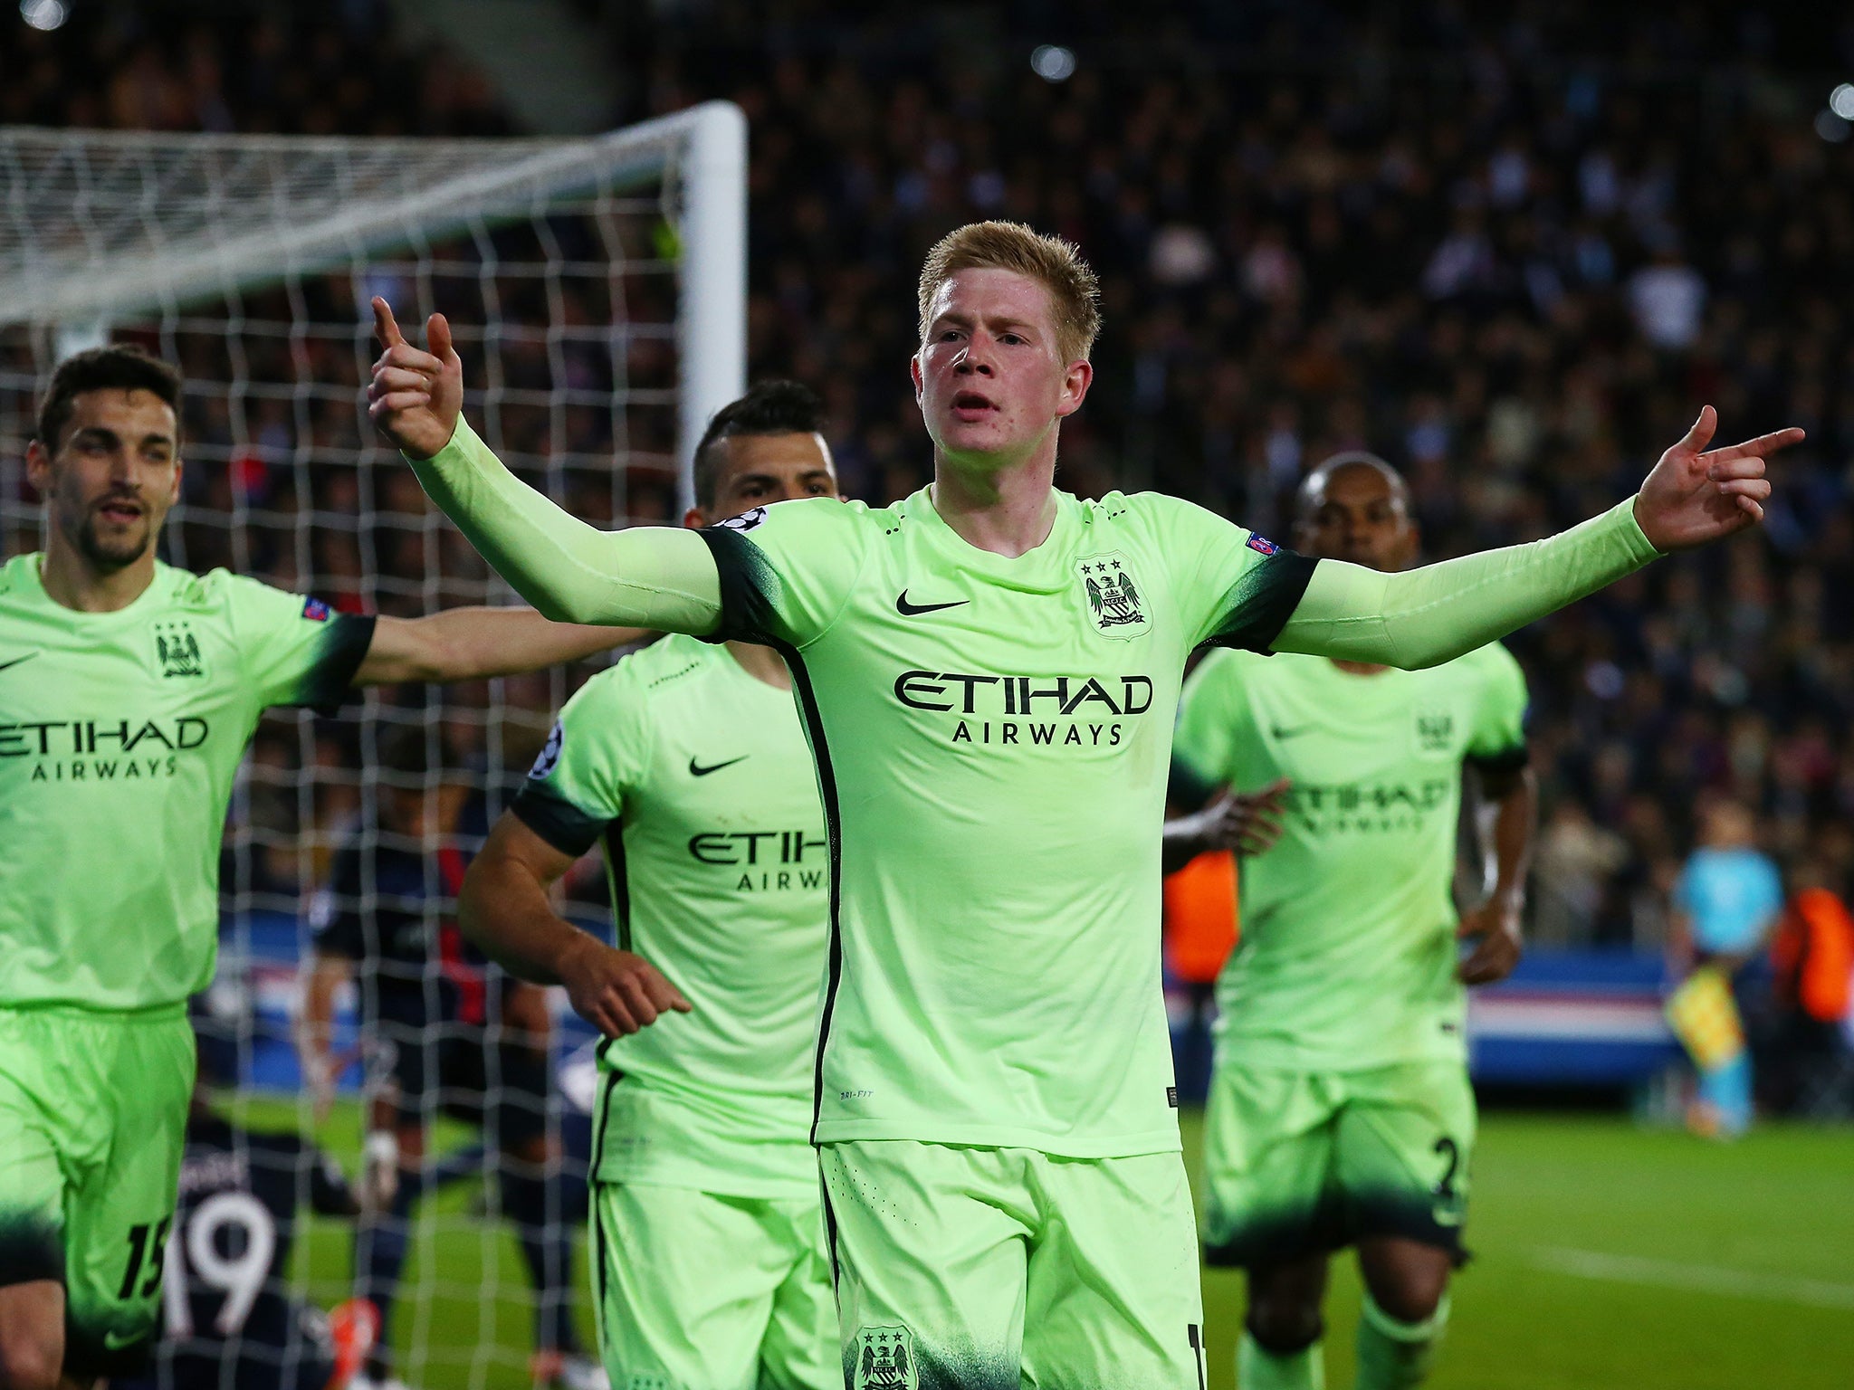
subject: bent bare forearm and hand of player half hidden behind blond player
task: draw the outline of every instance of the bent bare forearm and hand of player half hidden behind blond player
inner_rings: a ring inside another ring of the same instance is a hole
[[[495,964],[534,984],[564,984],[573,1010],[616,1038],[692,1005],[651,962],[562,919],[547,890],[573,867],[521,817],[502,814],[464,875],[458,927]]]

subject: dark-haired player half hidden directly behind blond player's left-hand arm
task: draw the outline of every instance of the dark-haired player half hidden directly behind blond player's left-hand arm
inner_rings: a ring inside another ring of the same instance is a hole
[[[721,410],[684,524],[834,497],[821,428],[794,382]],[[616,951],[547,901],[595,843]],[[669,636],[580,688],[464,882],[471,938],[606,1034],[591,1207],[614,1386],[844,1383],[808,1144],[829,867],[779,652]]]

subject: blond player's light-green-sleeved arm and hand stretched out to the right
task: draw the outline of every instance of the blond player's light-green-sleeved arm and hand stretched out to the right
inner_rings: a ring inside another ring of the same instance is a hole
[[[1706,452],[1717,423],[1706,406],[1633,499],[1548,539],[1398,575],[1322,560],[1274,649],[1405,669],[1441,665],[1669,550],[1758,524],[1771,497],[1763,461],[1800,443],[1802,430]]]

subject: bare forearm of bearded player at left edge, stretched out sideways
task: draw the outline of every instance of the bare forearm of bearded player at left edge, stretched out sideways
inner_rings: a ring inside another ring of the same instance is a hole
[[[514,676],[647,636],[645,628],[551,623],[532,608],[447,608],[430,617],[382,617],[373,626],[373,643],[354,684]]]

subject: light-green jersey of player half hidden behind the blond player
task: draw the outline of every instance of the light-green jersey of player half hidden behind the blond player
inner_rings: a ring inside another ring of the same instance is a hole
[[[831,845],[792,693],[664,638],[567,701],[514,812],[604,843],[619,945],[695,1006],[601,1045],[595,1177],[816,1197]]]

